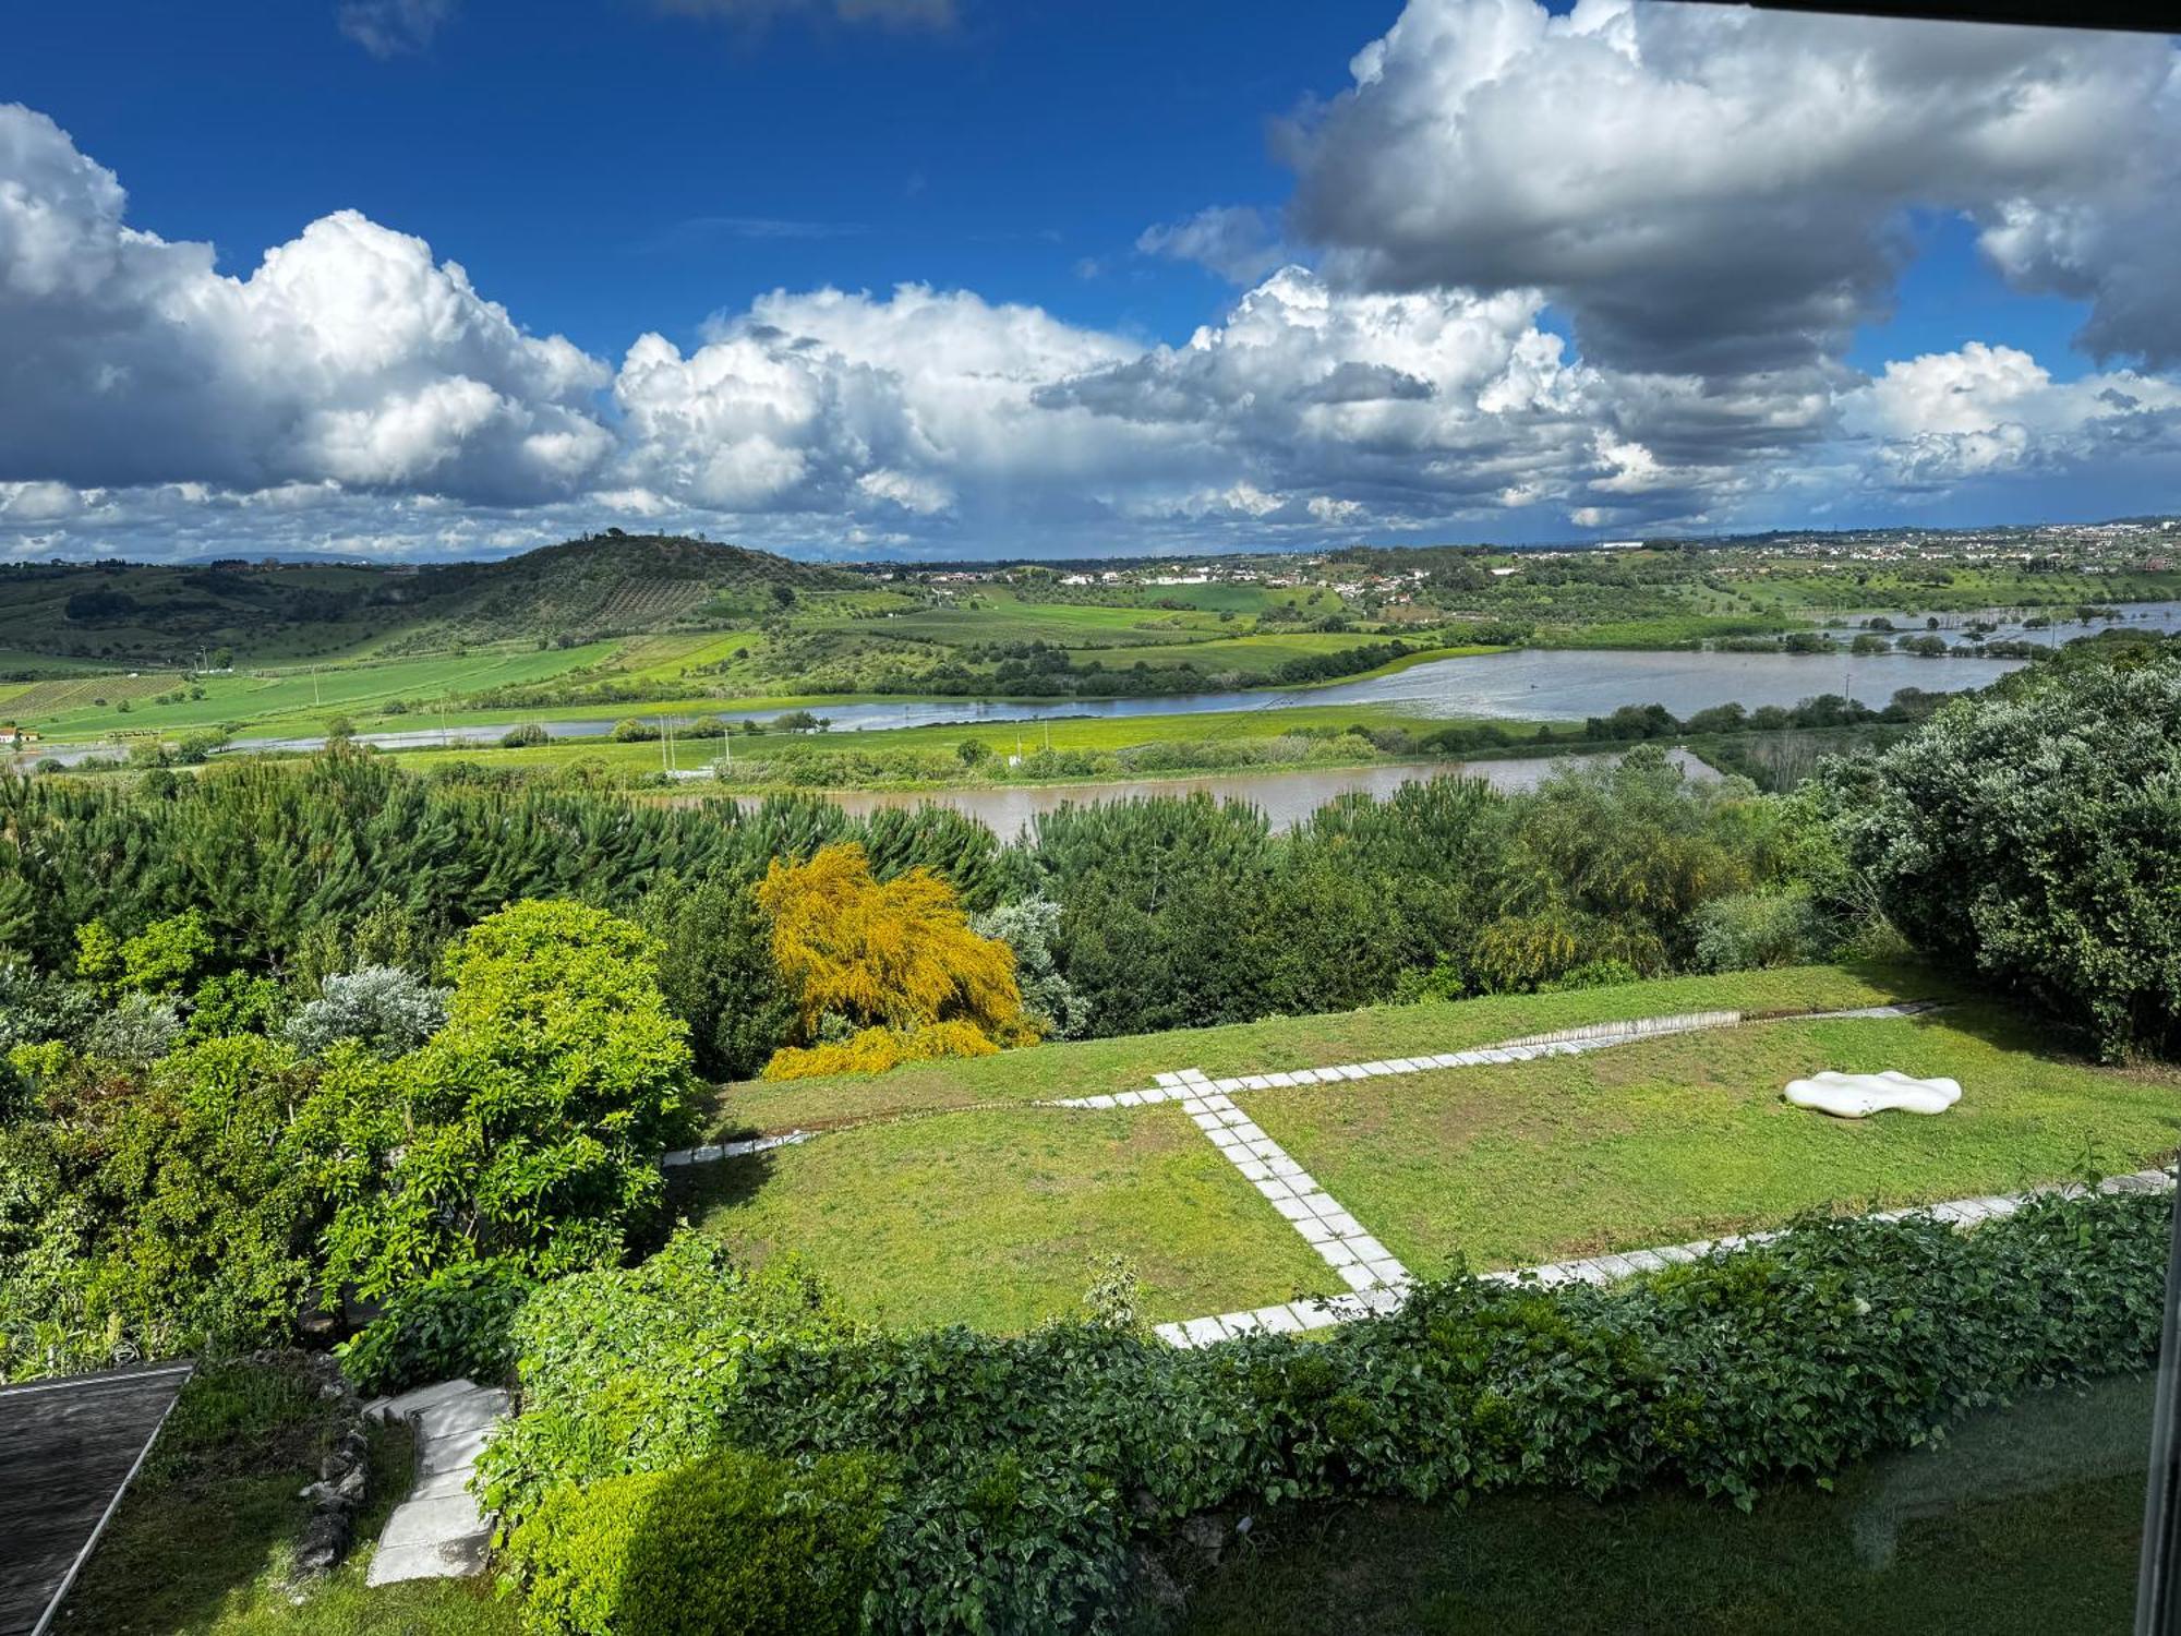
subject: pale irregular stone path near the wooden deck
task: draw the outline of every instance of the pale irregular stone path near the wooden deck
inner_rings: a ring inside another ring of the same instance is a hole
[[[508,1394],[473,1381],[417,1387],[364,1409],[371,1420],[406,1420],[417,1429],[417,1485],[386,1518],[364,1584],[467,1579],[484,1568],[493,1518],[478,1509],[469,1477],[506,1414]]]

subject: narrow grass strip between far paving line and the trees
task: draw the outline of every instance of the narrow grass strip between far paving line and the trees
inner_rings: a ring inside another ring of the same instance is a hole
[[[1581,1023],[1699,1010],[1845,1010],[1895,999],[1941,999],[1959,986],[1919,966],[1786,966],[1719,977],[1583,988],[1568,995],[1492,995],[1424,1006],[1372,1006],[1326,1017],[1274,1017],[1230,1027],[1125,1034],[1038,1045],[968,1062],[920,1062],[875,1078],[748,1082],[720,1093],[713,1134],[820,1130],[903,1112],[992,1102],[1132,1091],[1169,1069],[1261,1073],[1461,1051]]]

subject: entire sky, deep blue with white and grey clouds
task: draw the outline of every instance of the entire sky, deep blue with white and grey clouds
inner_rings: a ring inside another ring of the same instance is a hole
[[[2172,41],[1564,13],[28,11],[0,554],[2177,506]]]

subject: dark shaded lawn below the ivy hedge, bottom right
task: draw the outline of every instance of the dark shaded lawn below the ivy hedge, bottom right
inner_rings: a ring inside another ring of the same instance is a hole
[[[2050,1636],[2124,1632],[2150,1383],[2055,1392],[1834,1492],[1686,1492],[1263,1518],[1176,1636]],[[1893,1529],[1893,1555],[1858,1551]]]

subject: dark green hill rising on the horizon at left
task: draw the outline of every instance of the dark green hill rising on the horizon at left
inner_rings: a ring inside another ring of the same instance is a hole
[[[608,532],[495,563],[65,563],[0,567],[0,676],[63,661],[214,665],[438,652],[473,641],[582,643],[757,617],[840,569],[772,552]]]

